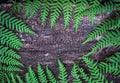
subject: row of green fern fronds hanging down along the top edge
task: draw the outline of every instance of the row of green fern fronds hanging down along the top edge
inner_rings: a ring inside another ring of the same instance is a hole
[[[24,17],[26,18],[27,16],[29,16],[30,18],[32,18],[35,13],[38,12],[39,9],[41,9],[40,19],[42,24],[45,24],[49,15],[50,26],[53,27],[57,19],[63,13],[64,28],[66,28],[70,22],[70,19],[72,18],[72,13],[74,13],[74,27],[77,31],[80,20],[82,20],[83,16],[90,16],[91,22],[93,24],[96,14],[112,12],[114,10],[119,11],[120,3],[118,2],[119,1],[114,0],[110,0],[107,2],[103,2],[101,0],[27,0],[27,2],[25,2]],[[18,9],[20,9],[19,7]]]

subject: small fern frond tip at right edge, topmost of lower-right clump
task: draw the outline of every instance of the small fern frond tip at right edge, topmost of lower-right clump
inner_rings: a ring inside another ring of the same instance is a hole
[[[120,65],[120,52],[117,52],[114,55],[106,58],[106,60],[112,63],[118,63]]]

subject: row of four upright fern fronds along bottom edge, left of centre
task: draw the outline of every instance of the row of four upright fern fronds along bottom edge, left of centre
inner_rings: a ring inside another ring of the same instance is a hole
[[[67,72],[64,65],[58,60],[59,64],[59,82],[67,83]],[[43,70],[40,63],[38,63],[38,72],[37,75],[34,71],[29,67],[29,71],[26,73],[26,83],[58,83],[57,79],[54,77],[54,74],[49,70],[48,66],[46,66],[46,73]],[[39,82],[38,82],[39,80]]]

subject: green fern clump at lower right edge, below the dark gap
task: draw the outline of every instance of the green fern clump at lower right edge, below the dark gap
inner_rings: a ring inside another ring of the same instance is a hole
[[[112,73],[113,75],[120,77],[120,53],[117,52],[114,55],[107,57],[104,62],[100,62],[98,67],[103,73]]]

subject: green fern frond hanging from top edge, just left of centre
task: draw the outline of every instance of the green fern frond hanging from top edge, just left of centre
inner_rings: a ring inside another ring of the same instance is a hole
[[[53,0],[51,10],[52,12],[50,14],[50,26],[52,28],[60,16],[60,13],[62,11],[62,3],[58,0]]]

